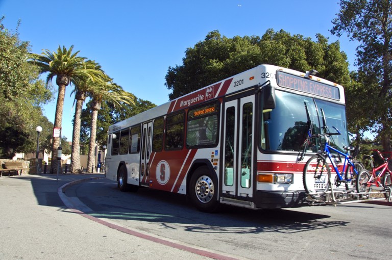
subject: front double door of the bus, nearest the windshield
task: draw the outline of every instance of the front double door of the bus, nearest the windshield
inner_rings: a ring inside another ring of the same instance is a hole
[[[254,100],[225,102],[223,196],[253,197]]]

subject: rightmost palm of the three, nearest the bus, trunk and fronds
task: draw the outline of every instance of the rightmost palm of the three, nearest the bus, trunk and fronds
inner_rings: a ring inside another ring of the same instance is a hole
[[[122,90],[120,86],[113,83],[112,79],[104,74],[102,81],[96,83],[94,90],[89,92],[92,98],[91,105],[91,128],[90,128],[90,142],[88,149],[87,172],[93,172],[95,162],[95,139],[96,139],[96,119],[98,111],[101,109],[103,100],[121,106],[122,104],[135,103],[135,96],[129,92]]]

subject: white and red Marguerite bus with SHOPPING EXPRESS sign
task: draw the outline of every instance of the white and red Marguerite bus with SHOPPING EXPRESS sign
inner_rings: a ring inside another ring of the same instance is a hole
[[[308,205],[320,109],[341,132],[336,148],[349,145],[344,89],[314,72],[259,65],[111,125],[106,177],[121,191],[185,194],[204,212]]]

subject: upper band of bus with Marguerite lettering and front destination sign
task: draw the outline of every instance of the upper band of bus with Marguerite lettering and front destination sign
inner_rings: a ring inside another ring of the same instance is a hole
[[[276,79],[277,76],[279,76],[278,79]],[[301,80],[305,79],[305,77],[306,81]],[[180,111],[218,97],[241,92],[251,87],[261,86],[266,84],[268,81],[275,88],[291,89],[307,93],[308,95],[318,95],[320,98],[332,98],[335,102],[345,102],[343,87],[336,83],[292,69],[274,65],[259,65],[255,68],[228,77],[225,80],[213,83],[174,100],[170,100],[160,106],[144,111],[126,120],[117,122],[109,126],[109,133],[116,132],[120,129],[124,129],[141,122],[152,120],[159,116]],[[308,87],[305,86],[307,83],[314,83],[318,85],[315,87]],[[338,97],[325,96],[323,94],[329,92],[332,92],[333,94],[336,93],[336,91],[338,93]]]

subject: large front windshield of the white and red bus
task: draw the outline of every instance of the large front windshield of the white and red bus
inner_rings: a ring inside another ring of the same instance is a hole
[[[323,127],[321,108],[326,116],[329,131],[341,135],[331,137],[330,145],[340,151],[349,145],[346,127],[345,106],[312,97],[301,96],[284,91],[275,91],[276,107],[261,113],[261,148],[275,151],[302,151],[308,135],[310,121],[313,122],[312,134],[321,133]],[[306,107],[305,107],[306,104]],[[319,140],[311,140],[308,152],[321,149]]]

